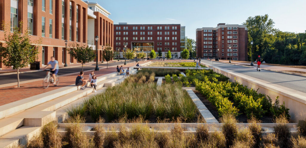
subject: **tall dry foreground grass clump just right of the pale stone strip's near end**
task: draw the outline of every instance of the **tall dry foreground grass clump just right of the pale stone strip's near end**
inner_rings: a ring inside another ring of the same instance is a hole
[[[234,140],[237,137],[238,127],[236,125],[237,121],[233,115],[223,115],[220,119],[222,125],[222,132],[226,138],[226,146],[233,145]]]

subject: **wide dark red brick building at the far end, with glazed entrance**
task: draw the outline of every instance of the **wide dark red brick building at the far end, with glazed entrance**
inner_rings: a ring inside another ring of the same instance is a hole
[[[183,31],[183,33],[182,33]],[[181,34],[184,37],[181,37]],[[123,57],[126,48],[144,52],[149,57],[151,50],[156,53],[171,51],[172,58],[181,57],[181,50],[185,49],[185,26],[180,24],[128,24],[114,25],[114,51]]]

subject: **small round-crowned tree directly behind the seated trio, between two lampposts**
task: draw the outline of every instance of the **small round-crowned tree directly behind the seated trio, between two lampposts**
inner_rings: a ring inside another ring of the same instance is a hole
[[[84,44],[70,44],[68,53],[82,64],[82,71],[83,64],[93,61],[96,55],[92,47]]]

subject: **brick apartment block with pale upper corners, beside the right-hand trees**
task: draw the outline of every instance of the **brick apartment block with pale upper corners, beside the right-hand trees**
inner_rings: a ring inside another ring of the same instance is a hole
[[[197,57],[201,58],[227,60],[231,58],[231,60],[246,61],[248,29],[244,25],[226,25],[225,23],[219,23],[217,27],[198,28],[196,29],[196,53]]]

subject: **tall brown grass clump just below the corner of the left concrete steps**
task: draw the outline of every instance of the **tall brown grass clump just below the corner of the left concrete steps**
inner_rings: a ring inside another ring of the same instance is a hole
[[[53,122],[42,127],[41,136],[43,139],[43,147],[62,147],[62,136],[57,132],[57,125]]]

